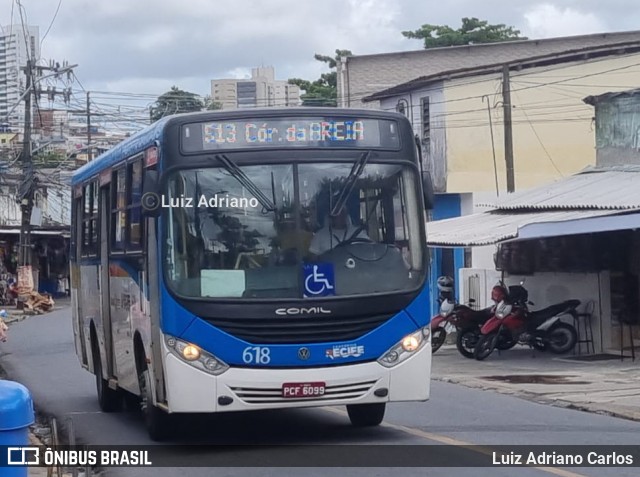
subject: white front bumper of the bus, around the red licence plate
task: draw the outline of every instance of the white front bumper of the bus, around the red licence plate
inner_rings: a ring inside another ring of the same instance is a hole
[[[166,348],[164,351],[170,412],[248,411],[429,398],[430,342],[393,368],[377,362],[307,369],[231,367],[219,376],[194,368]],[[284,397],[284,383],[324,383],[325,393],[316,397]]]

